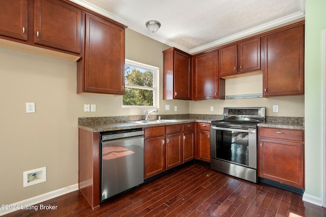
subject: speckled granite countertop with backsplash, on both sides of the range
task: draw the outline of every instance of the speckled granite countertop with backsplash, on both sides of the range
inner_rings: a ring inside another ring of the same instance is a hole
[[[161,115],[161,119],[174,119],[174,122],[139,124],[127,121],[141,120],[143,116],[120,116],[120,117],[85,117],[78,118],[78,128],[90,132],[104,132],[115,130],[127,130],[135,128],[148,128],[157,126],[176,125],[178,123],[205,122],[210,123],[214,120],[222,120],[222,115],[201,115],[201,114],[186,114],[186,115]],[[157,119],[153,115],[151,119]],[[258,127],[268,128],[283,128],[304,130],[303,117],[266,117],[266,122],[259,123]]]

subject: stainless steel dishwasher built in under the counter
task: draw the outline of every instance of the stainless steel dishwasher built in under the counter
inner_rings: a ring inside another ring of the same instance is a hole
[[[101,201],[144,182],[144,131],[101,134]]]

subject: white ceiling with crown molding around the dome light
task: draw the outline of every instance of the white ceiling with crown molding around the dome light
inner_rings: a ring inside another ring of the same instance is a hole
[[[70,1],[191,54],[305,17],[305,0]],[[161,23],[156,33],[148,20]]]

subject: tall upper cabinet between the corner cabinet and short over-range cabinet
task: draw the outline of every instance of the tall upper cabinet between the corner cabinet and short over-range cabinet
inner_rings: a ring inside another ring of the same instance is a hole
[[[218,51],[194,55],[194,100],[225,99],[225,80],[219,78]]]

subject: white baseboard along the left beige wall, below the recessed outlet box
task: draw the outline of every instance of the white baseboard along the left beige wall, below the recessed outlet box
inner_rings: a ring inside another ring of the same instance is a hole
[[[42,202],[50,200],[52,198],[59,197],[61,195],[68,194],[70,192],[74,192],[74,191],[77,191],[77,190],[78,190],[78,183],[69,185],[68,187],[65,187],[65,188],[62,188],[62,189],[58,189],[58,190],[55,190],[55,191],[52,191],[52,192],[48,192],[48,193],[45,193],[45,194],[42,194],[42,195],[38,195],[38,196],[29,198],[29,199],[26,199],[26,200],[22,200],[22,201],[13,203],[13,204],[8,204],[7,208],[9,208],[9,207],[10,208],[14,207],[14,208],[12,208],[12,209],[3,209],[1,207],[0,208],[0,216],[3,216],[5,214],[8,214],[8,213],[11,213],[11,212],[14,212],[14,211],[17,211],[17,210],[20,209],[20,207],[32,206],[32,205],[42,203]],[[44,204],[44,205],[48,205],[48,204]]]

